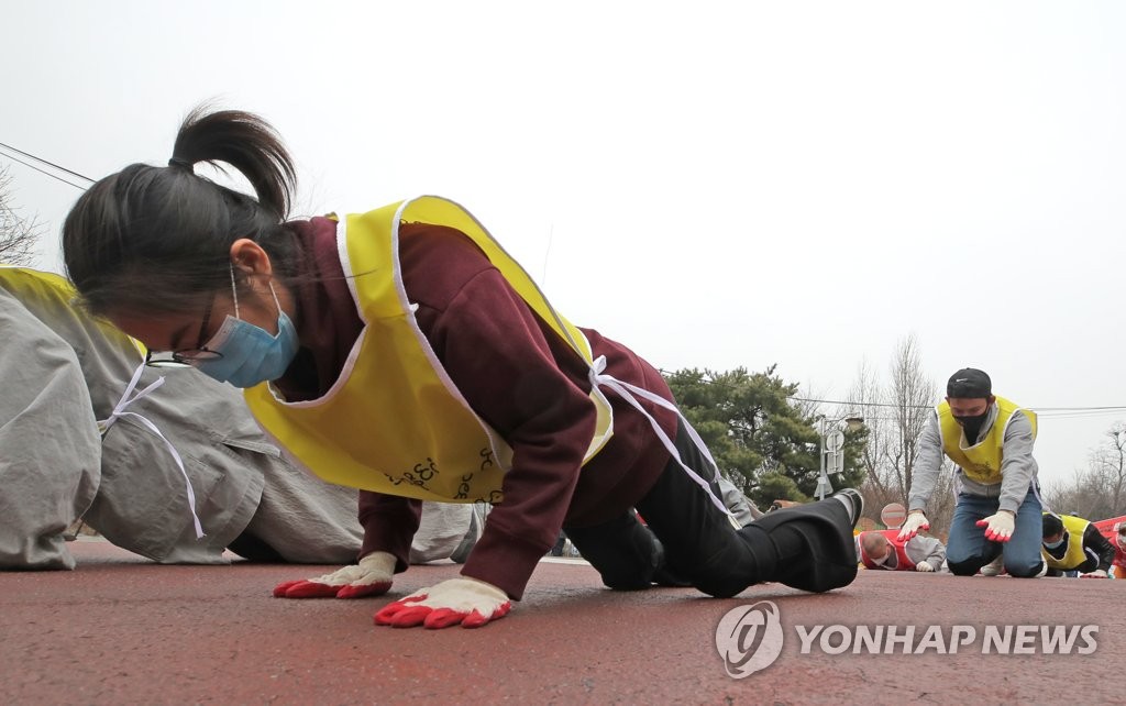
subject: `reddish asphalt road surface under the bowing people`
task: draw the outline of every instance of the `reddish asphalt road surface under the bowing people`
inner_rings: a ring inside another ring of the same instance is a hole
[[[77,571],[0,574],[0,704],[1109,703],[1126,655],[1126,581],[861,571],[825,595],[762,584],[717,600],[611,592],[586,564],[543,562],[502,620],[426,631],[375,627],[372,615],[456,565],[413,566],[390,597],[283,600],[276,583],[322,570],[70,548]],[[781,654],[733,679],[716,627],[760,600],[778,606]],[[977,640],[957,654],[901,654],[900,643],[839,655],[814,640],[801,654],[797,626],[834,624],[914,625],[915,645],[928,626],[969,625]],[[989,625],[1087,624],[1099,627],[1091,654],[982,654]]]

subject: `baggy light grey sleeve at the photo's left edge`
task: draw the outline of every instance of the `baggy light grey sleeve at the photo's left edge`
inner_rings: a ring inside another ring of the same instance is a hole
[[[73,569],[63,531],[100,480],[98,428],[71,347],[0,288],[0,568]]]

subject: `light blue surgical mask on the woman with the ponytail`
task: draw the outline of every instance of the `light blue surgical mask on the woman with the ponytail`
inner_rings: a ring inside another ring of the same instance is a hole
[[[231,288],[234,289],[233,269]],[[282,311],[274,283],[270,283],[270,293],[278,307],[277,336],[239,318],[239,295],[235,291],[234,316],[227,314],[223,325],[206,345],[208,350],[222,354],[222,357],[197,361],[195,365],[200,373],[235,387],[253,387],[285,374],[301,343],[293,321]]]

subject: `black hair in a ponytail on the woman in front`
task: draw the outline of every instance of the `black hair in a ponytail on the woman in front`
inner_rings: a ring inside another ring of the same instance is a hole
[[[233,167],[257,198],[197,176],[198,162]],[[63,224],[66,275],[93,314],[189,312],[230,288],[231,244],[249,238],[284,280],[300,252],[285,226],[295,186],[293,160],[266,120],[199,106],[167,167],[131,164],[78,199]]]

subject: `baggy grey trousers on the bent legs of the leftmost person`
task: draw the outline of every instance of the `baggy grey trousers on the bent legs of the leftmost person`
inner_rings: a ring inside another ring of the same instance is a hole
[[[184,476],[166,444],[128,419],[106,435],[102,490],[88,516],[93,527],[162,563],[226,563],[224,549],[244,531],[287,562],[356,560],[363,530],[354,489],[289,463],[241,391],[196,370],[146,370],[141,384],[158,374],[163,385],[135,411],[184,458],[207,536],[195,536]]]

